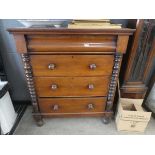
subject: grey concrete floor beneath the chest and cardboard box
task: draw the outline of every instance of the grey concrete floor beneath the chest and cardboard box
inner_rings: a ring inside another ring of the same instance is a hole
[[[27,108],[15,135],[122,135],[155,134],[155,119],[151,119],[144,133],[118,132],[115,122],[105,125],[101,118],[50,118],[44,119],[44,126],[37,127],[31,115],[31,106]]]

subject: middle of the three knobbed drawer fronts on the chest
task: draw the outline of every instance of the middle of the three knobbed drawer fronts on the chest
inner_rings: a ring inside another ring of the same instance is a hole
[[[39,97],[107,96],[110,77],[34,77]]]

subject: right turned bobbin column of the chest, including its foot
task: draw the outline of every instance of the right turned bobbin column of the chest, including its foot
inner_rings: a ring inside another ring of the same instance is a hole
[[[113,102],[114,102],[121,62],[122,62],[122,54],[116,53],[115,57],[114,57],[114,66],[113,66],[111,81],[109,84],[107,102],[106,102],[105,112],[107,112],[107,115],[105,114],[105,116],[103,118],[103,123],[105,123],[105,124],[109,123],[109,121],[111,119],[111,115],[109,115],[109,114],[112,112],[112,107],[113,107]]]

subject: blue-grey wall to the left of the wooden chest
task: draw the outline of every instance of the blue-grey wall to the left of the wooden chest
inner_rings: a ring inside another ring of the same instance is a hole
[[[20,56],[16,52],[13,36],[7,32],[7,28],[22,26],[16,20],[0,20],[0,52],[4,69],[10,83],[11,98],[16,101],[30,100],[26,87],[23,66]]]

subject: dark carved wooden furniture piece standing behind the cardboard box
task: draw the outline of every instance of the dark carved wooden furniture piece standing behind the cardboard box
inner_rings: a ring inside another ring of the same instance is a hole
[[[154,74],[155,20],[139,20],[133,38],[125,77],[121,86],[122,97],[144,98],[148,83]]]

